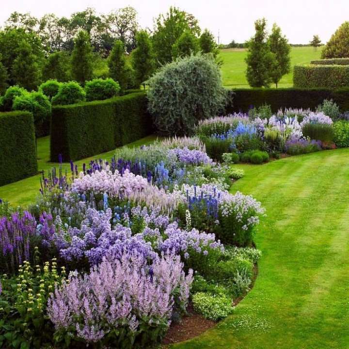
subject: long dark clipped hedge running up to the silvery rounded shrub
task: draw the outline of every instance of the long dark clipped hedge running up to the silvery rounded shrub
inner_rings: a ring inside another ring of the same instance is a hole
[[[153,132],[144,92],[52,108],[51,161],[110,151]]]

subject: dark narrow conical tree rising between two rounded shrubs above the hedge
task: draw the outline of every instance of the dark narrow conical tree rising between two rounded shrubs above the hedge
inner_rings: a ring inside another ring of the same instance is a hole
[[[90,45],[90,36],[87,32],[80,31],[74,42],[71,57],[72,77],[81,85],[91,80],[93,76],[93,55]]]

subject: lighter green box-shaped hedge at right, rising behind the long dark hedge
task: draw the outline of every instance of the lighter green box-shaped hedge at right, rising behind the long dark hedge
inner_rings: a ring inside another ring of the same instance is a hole
[[[349,86],[349,65],[295,65],[293,86],[295,88],[332,89]]]

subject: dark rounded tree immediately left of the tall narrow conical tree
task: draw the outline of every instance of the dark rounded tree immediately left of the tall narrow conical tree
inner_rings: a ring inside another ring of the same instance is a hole
[[[69,54],[64,51],[51,53],[45,61],[43,78],[45,80],[56,79],[60,82],[70,80],[71,73]]]

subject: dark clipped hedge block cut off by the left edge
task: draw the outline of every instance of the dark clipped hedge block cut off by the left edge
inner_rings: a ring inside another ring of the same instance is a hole
[[[37,173],[34,132],[30,112],[0,113],[0,186]]]

